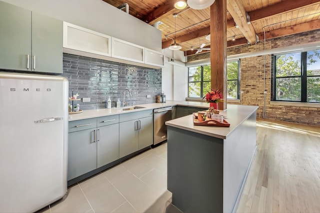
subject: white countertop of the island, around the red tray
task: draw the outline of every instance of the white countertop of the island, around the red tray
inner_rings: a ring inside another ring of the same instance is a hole
[[[167,126],[176,127],[215,138],[226,139],[239,124],[246,120],[252,113],[258,109],[257,106],[245,105],[227,105],[227,110],[220,111],[220,115],[230,124],[230,127],[214,127],[214,126],[194,126],[193,115],[184,116],[171,121],[165,122]]]

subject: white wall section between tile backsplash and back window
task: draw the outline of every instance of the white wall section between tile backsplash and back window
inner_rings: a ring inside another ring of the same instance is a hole
[[[162,91],[166,100],[185,101],[187,97],[187,68],[184,53],[179,50],[163,49],[164,67],[162,68]],[[174,58],[174,62],[169,62]]]

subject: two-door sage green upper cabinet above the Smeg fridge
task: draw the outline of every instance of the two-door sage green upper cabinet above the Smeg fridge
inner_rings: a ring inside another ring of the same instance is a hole
[[[0,68],[62,73],[62,21],[0,1]]]

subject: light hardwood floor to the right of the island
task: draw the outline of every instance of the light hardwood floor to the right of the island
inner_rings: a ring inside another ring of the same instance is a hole
[[[320,213],[320,127],[257,120],[238,213]]]

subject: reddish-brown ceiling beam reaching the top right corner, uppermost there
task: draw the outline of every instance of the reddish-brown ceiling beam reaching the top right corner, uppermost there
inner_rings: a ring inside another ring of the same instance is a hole
[[[248,14],[250,16],[250,21],[254,21],[318,2],[319,0],[284,0],[268,7],[248,12]]]

